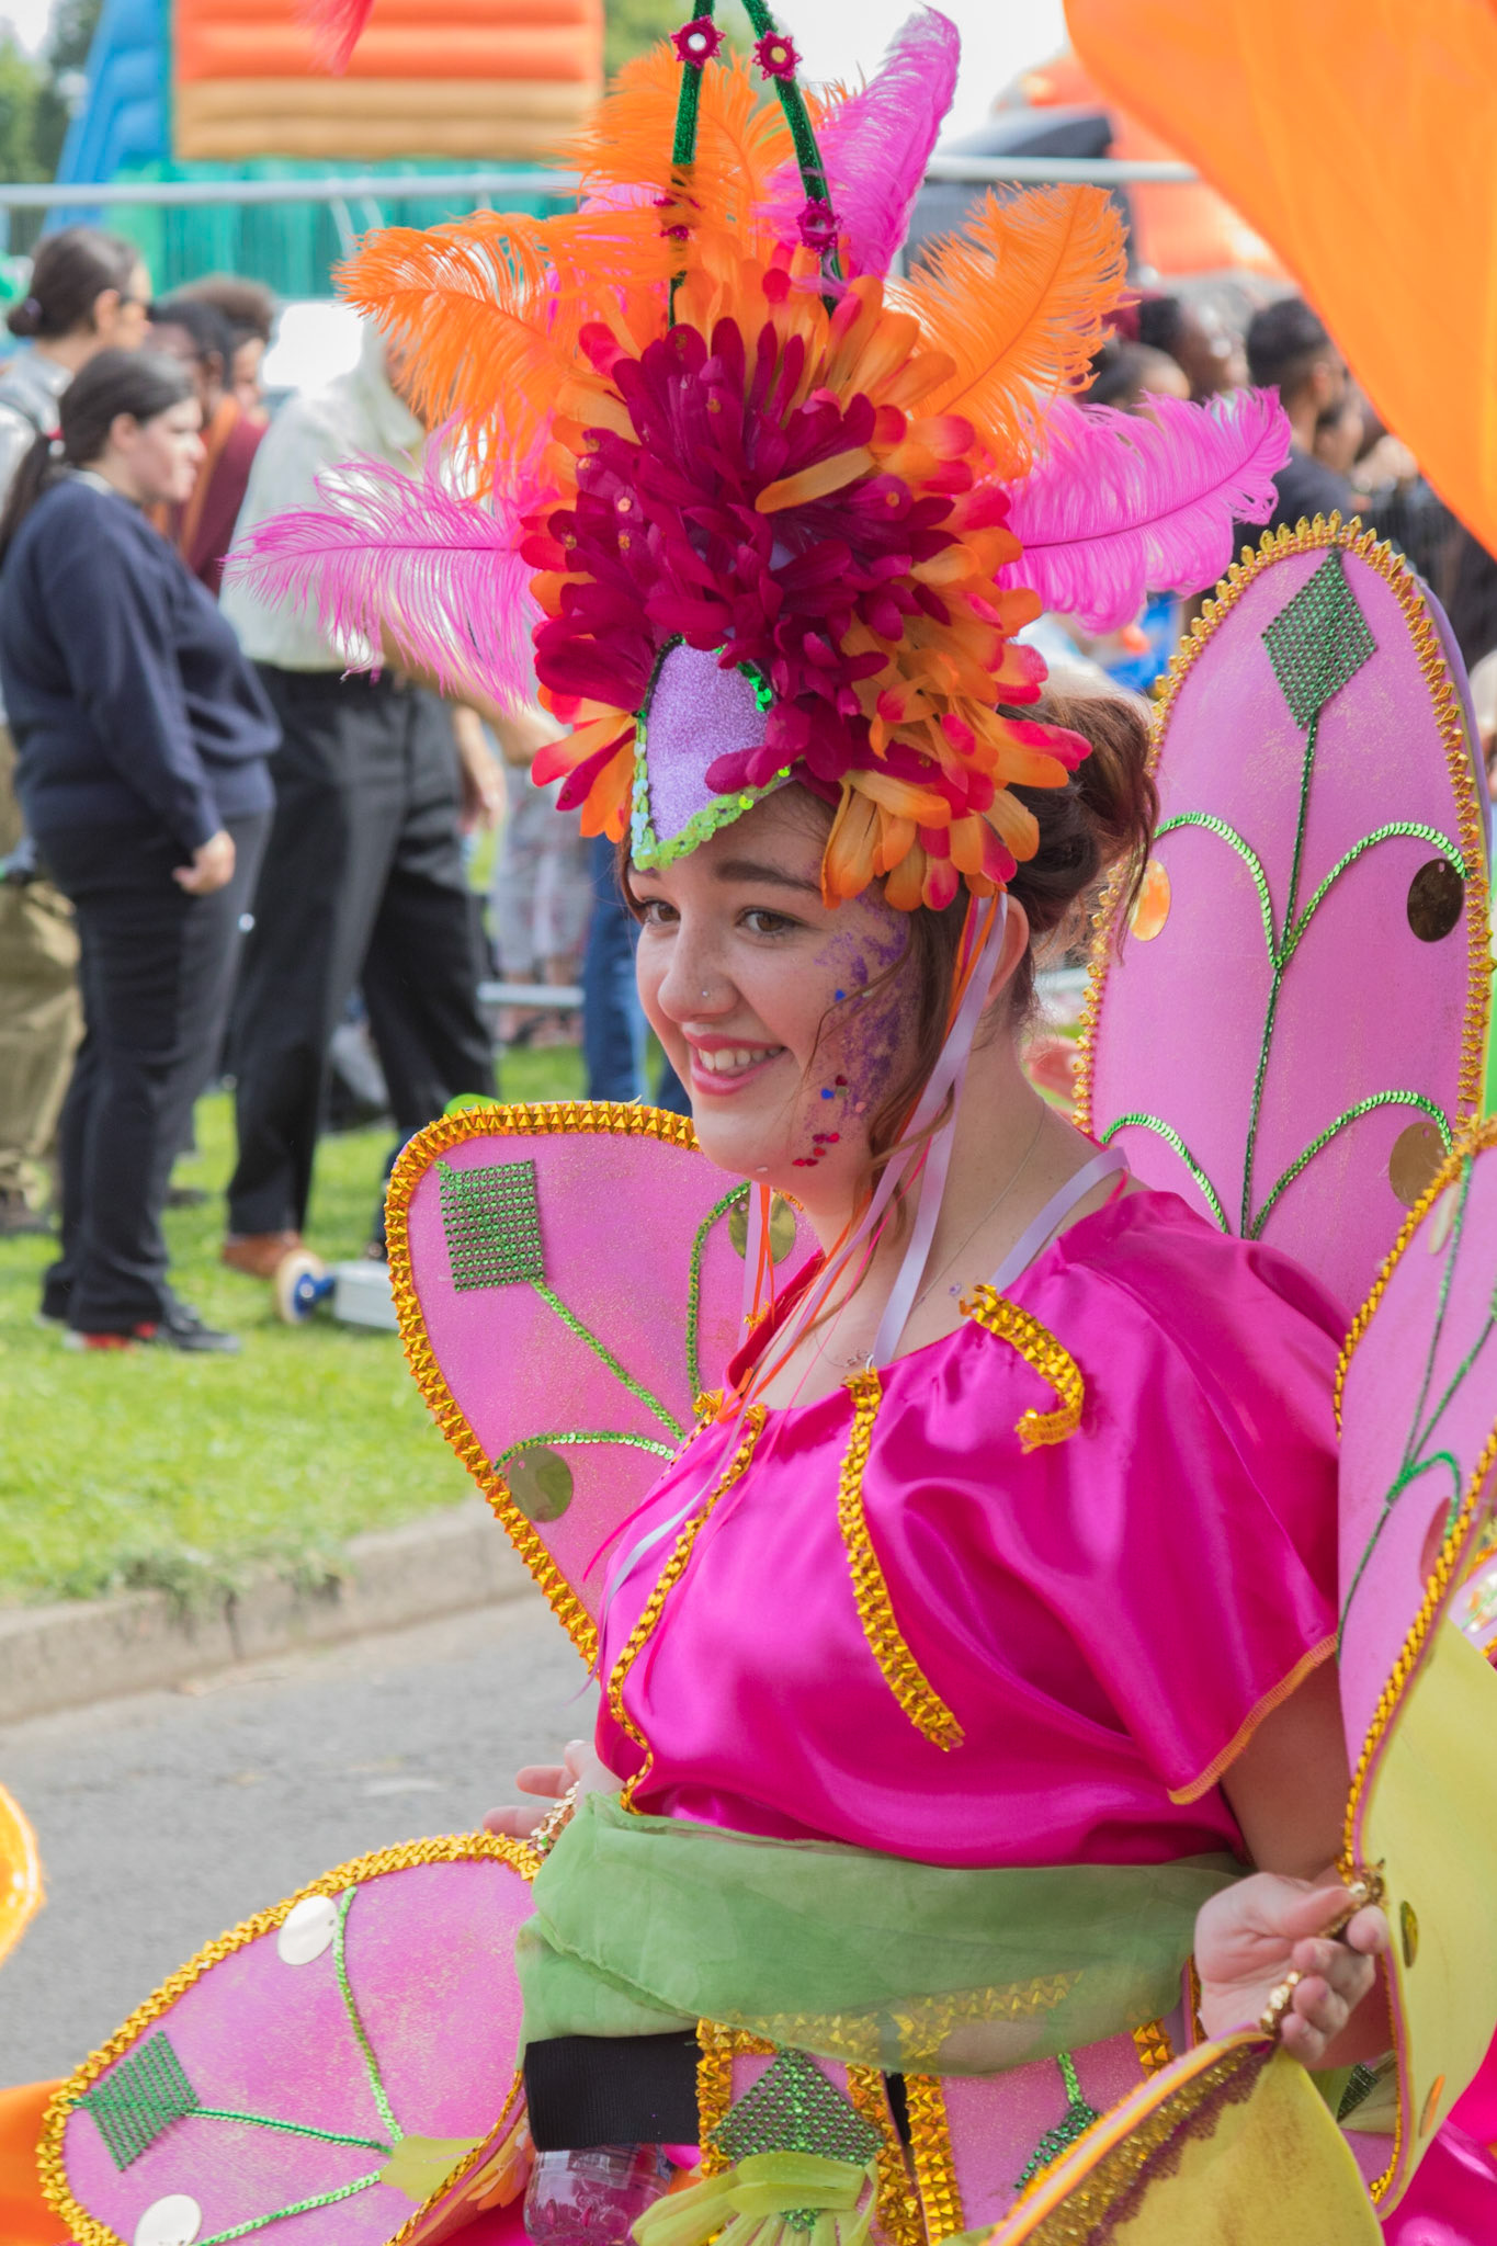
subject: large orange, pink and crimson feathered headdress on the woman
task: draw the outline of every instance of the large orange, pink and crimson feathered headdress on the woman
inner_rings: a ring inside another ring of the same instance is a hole
[[[1219,575],[1284,424],[1252,395],[1158,424],[1064,404],[1124,285],[1100,189],[990,193],[891,279],[954,27],[922,9],[871,85],[812,99],[747,13],[752,61],[705,0],[622,72],[561,150],[577,213],[391,229],[352,258],[346,294],[415,341],[417,402],[476,490],[343,476],[249,566],[373,645],[404,618],[447,683],[514,703],[518,562],[570,728],[534,775],[586,833],[662,862],[795,777],[835,809],[828,901],[878,876],[898,907],[985,896],[1035,851],[1012,788],[1086,752],[1010,714],[1044,685],[1017,633],[1053,600],[1113,618]],[[485,573],[498,627],[474,620]]]

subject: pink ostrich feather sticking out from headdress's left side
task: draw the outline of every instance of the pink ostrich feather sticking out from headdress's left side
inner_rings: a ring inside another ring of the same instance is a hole
[[[420,476],[357,458],[319,476],[316,494],[319,508],[256,523],[229,568],[263,600],[316,602],[352,669],[379,669],[388,636],[458,699],[474,687],[503,710],[534,699],[541,611],[518,553],[523,499],[465,499],[431,456]]]

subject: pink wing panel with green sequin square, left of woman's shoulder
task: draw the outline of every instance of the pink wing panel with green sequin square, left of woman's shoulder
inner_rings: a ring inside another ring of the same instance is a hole
[[[584,1655],[615,1532],[723,1384],[754,1280],[768,1300],[795,1269],[795,1211],[774,1199],[763,1231],[747,1271],[752,1188],[653,1110],[471,1107],[399,1157],[411,1363]]]

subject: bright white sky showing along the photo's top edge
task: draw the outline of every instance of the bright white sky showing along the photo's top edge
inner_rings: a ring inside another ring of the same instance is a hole
[[[853,79],[873,72],[911,7],[913,0],[781,0],[777,13],[812,79]],[[1062,0],[943,0],[943,7],[963,36],[949,130],[970,133],[1001,85],[1064,45]],[[0,18],[9,18],[22,47],[40,45],[49,13],[52,0],[0,0]]]

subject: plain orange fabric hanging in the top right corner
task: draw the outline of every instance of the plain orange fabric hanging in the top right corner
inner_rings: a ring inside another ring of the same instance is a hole
[[[1497,0],[1066,0],[1100,88],[1273,243],[1497,550]]]

